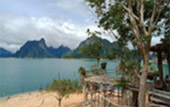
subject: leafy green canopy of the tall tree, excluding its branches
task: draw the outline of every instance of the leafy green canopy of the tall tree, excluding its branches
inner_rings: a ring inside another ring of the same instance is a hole
[[[115,0],[115,1],[105,1],[105,0],[85,0],[89,7],[91,7],[97,17],[98,17],[98,26],[102,27],[105,31],[113,31],[116,30],[120,36],[116,36],[119,42],[127,44],[127,42],[132,42],[134,45],[137,44],[137,40],[132,31],[132,27],[134,26],[129,18],[128,12],[123,8],[120,3],[116,3],[116,1],[121,2],[125,6],[127,6],[128,1],[126,0]],[[138,17],[139,15],[139,5],[137,4],[137,0],[132,0],[132,10],[134,14]],[[150,19],[153,12],[154,4],[157,3],[157,12],[156,17],[154,19],[155,26],[153,28],[152,34],[154,36],[161,35],[161,28],[165,28],[166,30],[165,37],[169,39],[169,17],[170,17],[170,6],[168,0],[144,0],[144,21],[146,29],[150,26]],[[160,14],[159,14],[160,13]],[[143,45],[146,46],[146,43],[149,39],[147,38],[145,33],[142,31],[142,27],[140,26],[139,20],[136,20],[139,25],[140,39],[144,42]],[[115,35],[114,35],[115,36]],[[169,39],[170,40],[170,39]],[[166,39],[164,39],[166,41]]]

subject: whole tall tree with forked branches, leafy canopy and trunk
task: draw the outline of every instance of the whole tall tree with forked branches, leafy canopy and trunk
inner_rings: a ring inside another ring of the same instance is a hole
[[[97,14],[99,27],[115,38],[138,48],[144,61],[140,77],[139,106],[145,106],[149,52],[154,35],[160,34],[163,19],[170,12],[169,0],[85,0]],[[114,33],[117,30],[118,35]]]

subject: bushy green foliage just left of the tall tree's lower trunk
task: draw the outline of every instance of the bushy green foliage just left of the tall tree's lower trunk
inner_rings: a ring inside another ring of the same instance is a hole
[[[121,79],[118,79],[117,84],[119,87],[124,87],[129,82],[132,84],[138,84],[138,75],[140,74],[139,71],[141,69],[141,61],[140,57],[138,56],[138,51],[125,50],[123,53],[124,56],[120,60],[119,66],[117,66],[117,72],[121,74],[122,77]]]

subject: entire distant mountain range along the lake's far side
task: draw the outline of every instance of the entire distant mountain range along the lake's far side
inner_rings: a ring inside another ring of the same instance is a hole
[[[39,41],[27,41],[15,54],[12,54],[8,50],[0,48],[0,57],[16,57],[16,58],[92,58],[87,56],[81,51],[81,48],[87,47],[90,44],[100,41],[103,48],[101,50],[101,57],[107,58],[110,50],[119,48],[118,42],[109,42],[106,39],[99,37],[89,37],[82,41],[80,45],[70,50],[68,47],[63,45],[58,48],[52,46],[48,47],[45,40],[42,38]]]

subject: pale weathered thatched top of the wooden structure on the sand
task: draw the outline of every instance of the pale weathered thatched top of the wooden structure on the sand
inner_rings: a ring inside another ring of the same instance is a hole
[[[103,84],[103,85],[111,85],[111,86],[115,85],[115,79],[105,75],[91,76],[85,78],[84,81],[90,83]]]

